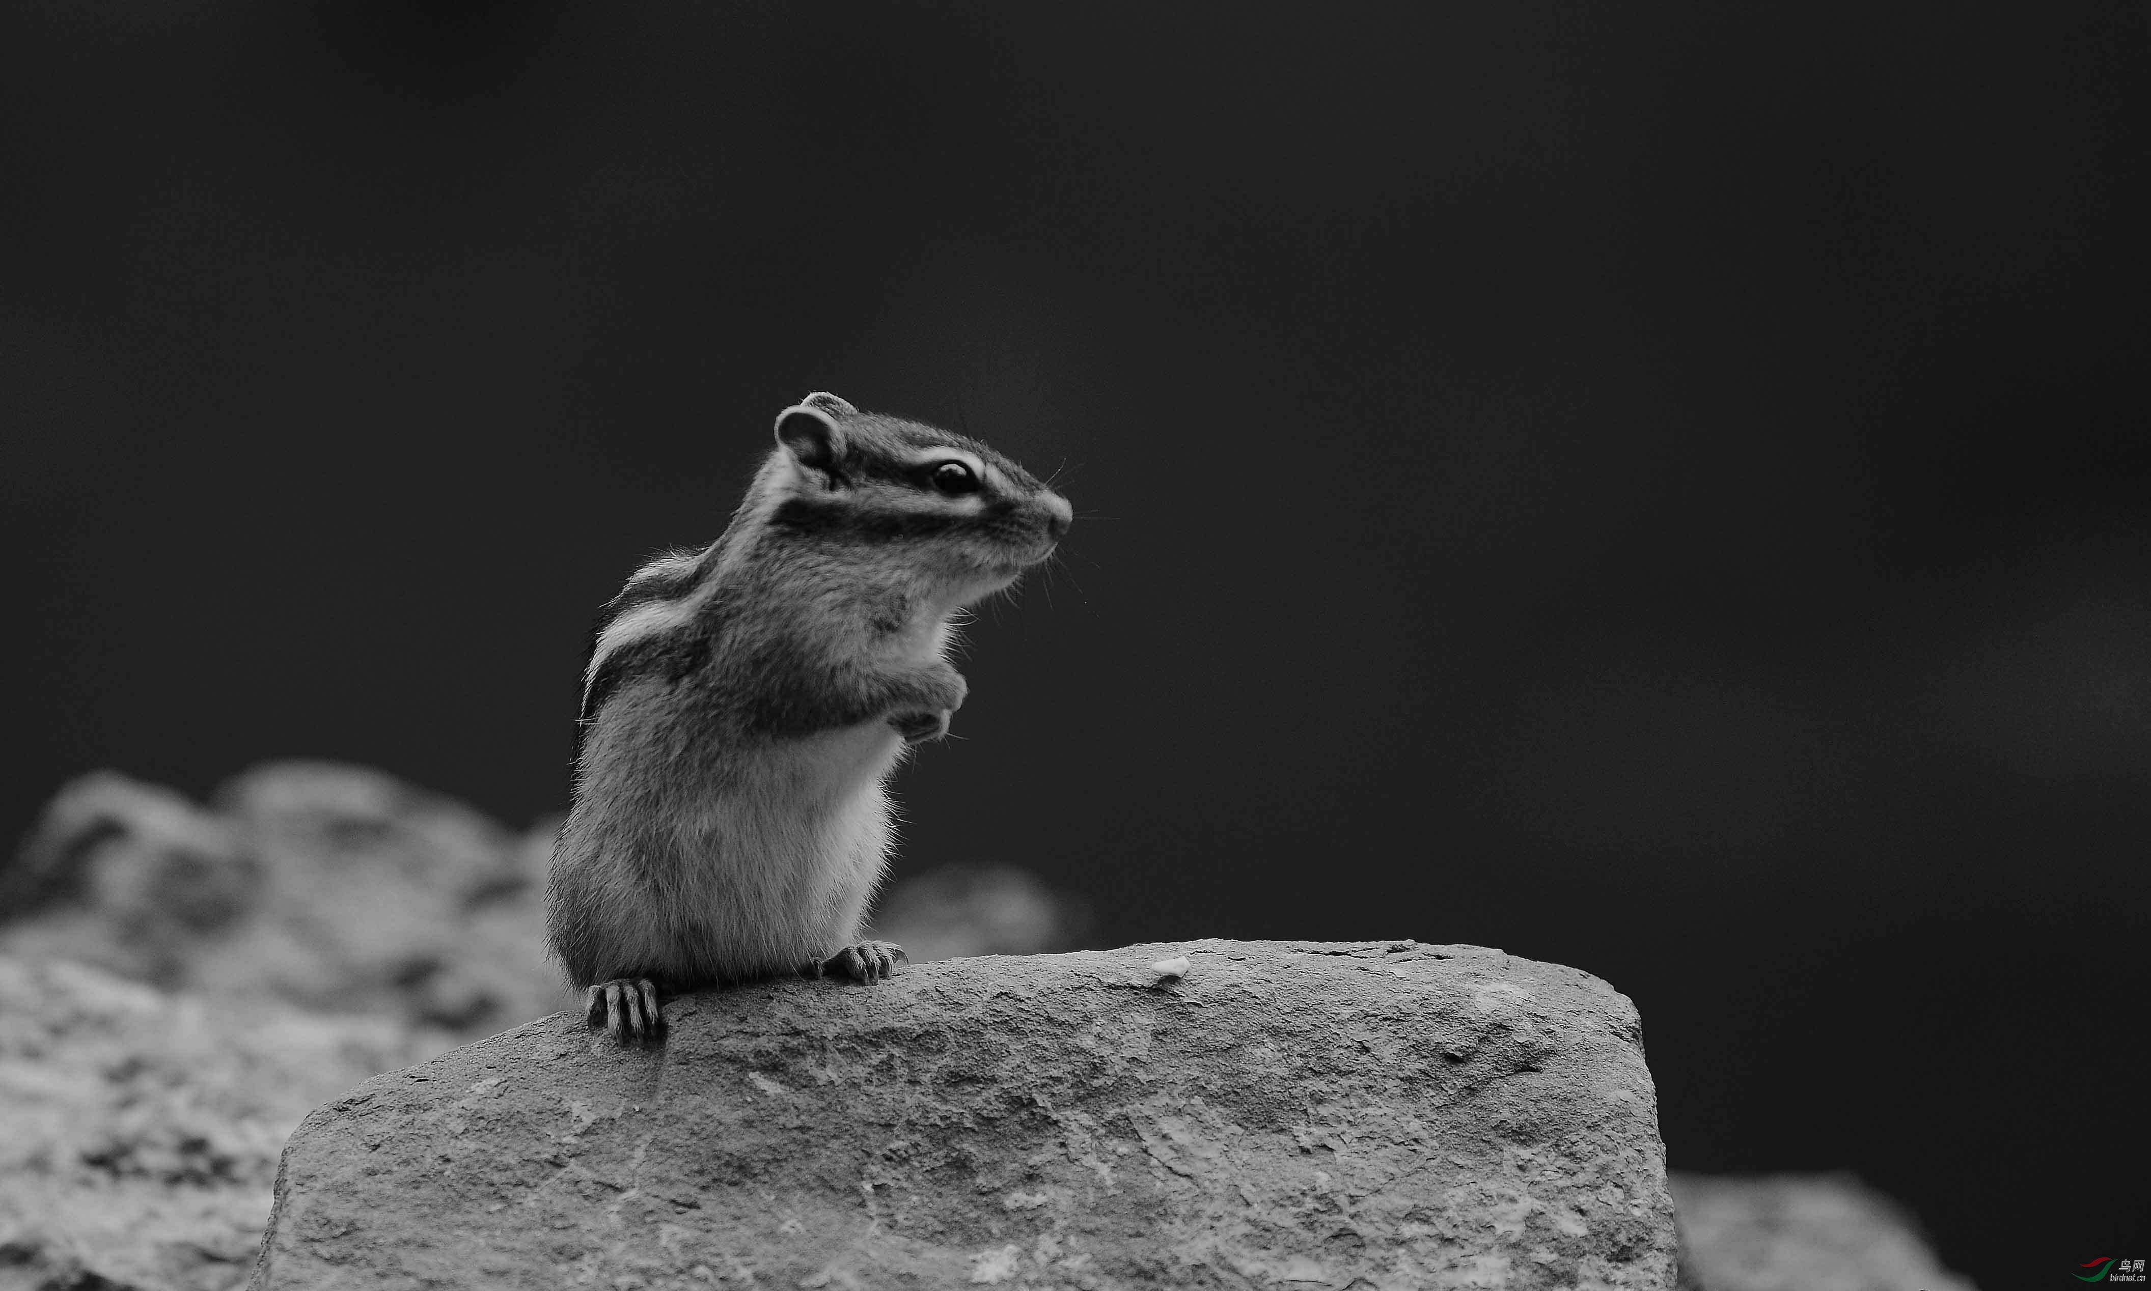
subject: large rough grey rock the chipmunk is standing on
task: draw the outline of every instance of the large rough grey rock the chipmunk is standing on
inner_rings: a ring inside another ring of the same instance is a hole
[[[667,1018],[619,1050],[559,1013],[318,1108],[252,1285],[1673,1280],[1637,1013],[1572,968],[1205,940]]]

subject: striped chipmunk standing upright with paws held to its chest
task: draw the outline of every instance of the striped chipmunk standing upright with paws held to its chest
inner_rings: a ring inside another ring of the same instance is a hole
[[[871,983],[888,772],[949,734],[951,615],[1052,555],[1065,497],[987,445],[809,394],[723,536],[652,559],[583,673],[546,934],[619,1041],[658,994],[779,973]]]

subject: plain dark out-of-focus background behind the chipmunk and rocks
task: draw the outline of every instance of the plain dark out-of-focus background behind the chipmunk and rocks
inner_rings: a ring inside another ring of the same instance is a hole
[[[899,874],[1575,964],[1676,1166],[2151,1254],[2147,34],[9,4],[0,826],[284,755],[564,809],[598,607],[835,389],[1082,516]]]

